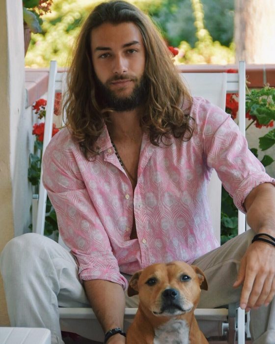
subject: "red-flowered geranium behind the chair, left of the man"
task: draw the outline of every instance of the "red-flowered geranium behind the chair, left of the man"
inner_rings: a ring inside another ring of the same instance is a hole
[[[60,99],[61,93],[55,93],[55,115],[59,115]],[[29,167],[27,173],[28,181],[33,186],[35,194],[38,194],[40,183],[43,138],[45,128],[45,121],[43,121],[43,118],[45,118],[46,116],[46,106],[47,100],[42,98],[38,99],[32,106],[32,110],[37,115],[38,119],[41,120],[40,123],[35,123],[32,127],[32,134],[35,135],[35,141],[33,153],[29,154]],[[54,123],[52,136],[54,136],[58,131],[59,129],[56,128]],[[29,225],[29,229],[32,230],[32,224]],[[44,233],[46,235],[51,235],[54,231],[56,231],[56,233],[58,231],[55,209],[52,206],[51,201],[47,197]]]

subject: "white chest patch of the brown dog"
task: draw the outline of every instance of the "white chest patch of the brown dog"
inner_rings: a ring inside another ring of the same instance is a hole
[[[189,326],[185,320],[169,320],[155,330],[154,344],[189,344]]]

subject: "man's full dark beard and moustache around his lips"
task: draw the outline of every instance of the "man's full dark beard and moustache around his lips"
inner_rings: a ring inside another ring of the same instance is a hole
[[[114,91],[112,91],[108,85],[112,81],[123,79],[130,79],[136,85],[131,94],[129,94],[128,96],[120,97]],[[141,104],[144,105],[147,100],[148,90],[148,81],[145,78],[144,74],[142,75],[139,81],[136,77],[131,77],[129,75],[121,75],[109,79],[105,84],[103,84],[95,75],[96,100],[103,108],[110,108],[113,111],[132,111]]]

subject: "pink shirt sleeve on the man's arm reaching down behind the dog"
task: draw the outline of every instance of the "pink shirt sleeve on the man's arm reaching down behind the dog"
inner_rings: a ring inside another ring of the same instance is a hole
[[[56,211],[59,233],[77,258],[80,280],[107,280],[125,289],[127,280],[119,272],[74,155],[70,147],[59,149],[51,141],[43,158],[43,184]]]

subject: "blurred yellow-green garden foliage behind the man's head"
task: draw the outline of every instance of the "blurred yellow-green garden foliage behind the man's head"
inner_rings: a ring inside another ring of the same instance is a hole
[[[51,60],[58,66],[70,64],[72,47],[80,27],[100,0],[54,0],[43,16],[42,32],[32,35],[25,58],[27,67],[48,67]],[[206,28],[211,41],[197,42],[191,0],[130,0],[152,15],[169,45],[180,45],[176,63],[233,63],[233,0],[203,0]],[[227,36],[226,36],[227,35]],[[220,43],[221,42],[221,43]],[[229,45],[222,46],[222,44]]]

